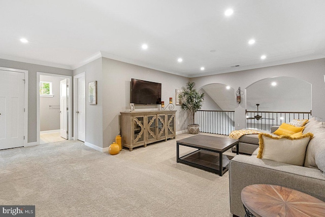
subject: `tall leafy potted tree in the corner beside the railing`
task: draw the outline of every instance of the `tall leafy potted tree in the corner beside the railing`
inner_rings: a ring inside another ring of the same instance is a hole
[[[189,111],[193,118],[193,124],[188,124],[188,133],[198,134],[200,125],[194,123],[195,113],[202,108],[204,93],[200,93],[195,87],[194,82],[188,81],[185,87],[182,87],[180,98],[182,99],[182,109]]]

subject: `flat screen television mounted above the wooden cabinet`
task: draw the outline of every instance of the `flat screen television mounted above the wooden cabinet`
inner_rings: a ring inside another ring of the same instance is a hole
[[[161,83],[132,78],[130,101],[141,105],[161,104]]]

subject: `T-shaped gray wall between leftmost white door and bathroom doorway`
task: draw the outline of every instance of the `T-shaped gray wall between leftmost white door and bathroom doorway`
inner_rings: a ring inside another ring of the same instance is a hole
[[[37,108],[36,94],[39,90],[37,84],[37,72],[52,73],[58,75],[72,76],[72,70],[48,67],[36,64],[22,63],[7,59],[0,59],[0,67],[21,69],[28,71],[28,140],[27,142],[37,141]]]

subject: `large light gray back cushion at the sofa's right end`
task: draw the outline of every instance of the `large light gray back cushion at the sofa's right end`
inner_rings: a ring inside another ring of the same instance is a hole
[[[314,134],[314,138],[310,140],[305,158],[305,167],[310,168],[319,168],[323,170],[324,168],[321,165],[321,156],[317,154],[317,162],[316,164],[316,153],[320,152],[323,148],[325,148],[325,122],[317,120],[317,118],[311,118],[306,124],[305,130],[303,133],[311,132]]]

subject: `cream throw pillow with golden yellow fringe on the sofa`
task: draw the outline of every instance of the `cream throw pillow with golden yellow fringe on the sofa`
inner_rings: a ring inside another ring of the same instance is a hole
[[[290,135],[274,137],[270,134],[261,133],[258,135],[257,158],[303,166],[307,145],[313,136],[312,133],[307,133],[294,137]]]

